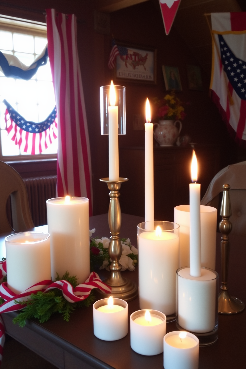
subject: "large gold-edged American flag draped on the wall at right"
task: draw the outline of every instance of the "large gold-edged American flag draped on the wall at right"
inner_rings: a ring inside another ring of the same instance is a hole
[[[246,140],[246,13],[212,13],[211,96],[238,140]]]

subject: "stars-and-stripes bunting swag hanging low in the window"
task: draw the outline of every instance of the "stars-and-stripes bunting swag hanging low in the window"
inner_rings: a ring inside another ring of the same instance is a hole
[[[27,154],[35,155],[44,152],[57,138],[56,107],[42,122],[35,123],[25,120],[22,115],[3,100],[6,105],[6,130],[15,145]]]

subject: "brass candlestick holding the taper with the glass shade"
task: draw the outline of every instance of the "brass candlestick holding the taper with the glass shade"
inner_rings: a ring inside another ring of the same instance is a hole
[[[125,301],[134,300],[138,296],[138,287],[134,282],[125,279],[121,276],[122,266],[119,259],[122,254],[122,246],[119,241],[119,232],[121,229],[121,208],[119,205],[119,189],[122,182],[127,182],[127,178],[119,178],[118,181],[110,181],[108,178],[101,178],[100,181],[106,182],[110,190],[110,204],[108,208],[108,225],[110,228],[110,244],[108,246],[108,254],[112,260],[110,269],[110,276],[104,279],[104,283],[111,287],[111,294],[105,294],[98,290],[99,294],[104,297],[113,296],[117,299]]]

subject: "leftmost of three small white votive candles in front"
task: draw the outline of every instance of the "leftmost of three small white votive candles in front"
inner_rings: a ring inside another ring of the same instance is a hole
[[[116,341],[128,333],[128,304],[121,299],[98,300],[93,304],[94,335],[104,341]]]

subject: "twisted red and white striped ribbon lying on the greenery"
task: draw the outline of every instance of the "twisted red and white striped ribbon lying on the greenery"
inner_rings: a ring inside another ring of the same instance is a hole
[[[7,275],[6,261],[0,262],[0,282]],[[52,280],[43,280],[42,282],[36,283],[24,292],[15,294],[11,291],[7,282],[3,282],[0,285],[0,297],[6,302],[0,306],[0,314],[9,313],[10,311],[16,311],[23,309],[26,305],[15,303],[15,301],[28,301],[32,293],[38,291],[48,292],[54,288],[58,288],[62,291],[63,297],[70,303],[85,300],[93,288],[99,288],[105,293],[110,293],[111,288],[107,284],[103,283],[97,273],[91,272],[89,277],[84,283],[79,284],[75,288],[66,280],[58,280],[53,282]],[[3,346],[5,341],[5,328],[3,320],[0,316],[0,362],[3,358]]]

